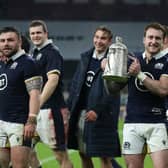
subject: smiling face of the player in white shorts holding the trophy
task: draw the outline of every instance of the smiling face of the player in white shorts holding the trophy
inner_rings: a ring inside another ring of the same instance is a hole
[[[143,44],[147,55],[157,54],[163,47],[163,32],[155,28],[149,28],[143,38]]]

